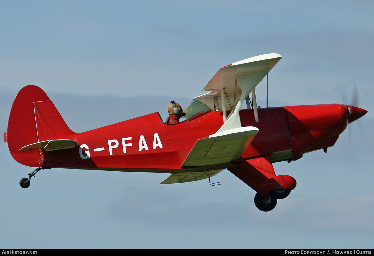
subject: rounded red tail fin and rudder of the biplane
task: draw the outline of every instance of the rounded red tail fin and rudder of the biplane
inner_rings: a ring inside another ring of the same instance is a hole
[[[37,86],[23,87],[10,110],[6,139],[12,157],[21,164],[39,167],[40,151],[19,151],[40,141],[73,139],[72,132],[46,93]]]

